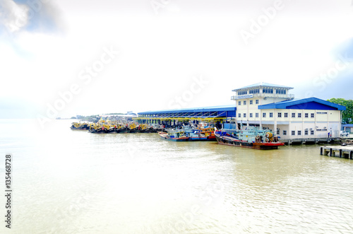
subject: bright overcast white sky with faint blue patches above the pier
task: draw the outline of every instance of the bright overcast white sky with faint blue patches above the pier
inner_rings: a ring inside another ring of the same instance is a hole
[[[353,99],[353,1],[1,0],[0,118]]]

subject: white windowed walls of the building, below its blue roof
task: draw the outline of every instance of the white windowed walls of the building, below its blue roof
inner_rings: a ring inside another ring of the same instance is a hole
[[[266,94],[261,93],[261,95]],[[277,135],[280,136],[280,139],[327,138],[328,132],[332,137],[339,136],[341,127],[340,110],[259,110],[258,105],[284,100],[284,98],[275,97],[264,98],[261,95],[256,94],[253,98],[236,100],[237,123],[242,123],[243,126],[258,124],[260,127],[271,129],[274,132],[279,130]],[[292,131],[294,131],[294,134],[292,134]]]

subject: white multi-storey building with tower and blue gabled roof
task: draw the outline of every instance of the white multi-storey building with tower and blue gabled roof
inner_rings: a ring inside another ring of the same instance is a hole
[[[294,99],[292,87],[255,83],[237,88],[237,124],[272,129],[280,139],[339,137],[346,107],[319,98]]]

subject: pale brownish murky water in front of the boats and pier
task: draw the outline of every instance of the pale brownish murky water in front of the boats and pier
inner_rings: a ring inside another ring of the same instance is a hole
[[[353,161],[318,146],[257,151],[70,123],[0,121],[14,158],[13,226],[0,233],[353,232]]]

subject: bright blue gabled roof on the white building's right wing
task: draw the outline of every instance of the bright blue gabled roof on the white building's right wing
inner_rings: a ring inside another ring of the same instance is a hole
[[[319,98],[304,98],[259,105],[258,109],[346,110],[346,107]]]

